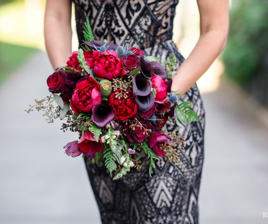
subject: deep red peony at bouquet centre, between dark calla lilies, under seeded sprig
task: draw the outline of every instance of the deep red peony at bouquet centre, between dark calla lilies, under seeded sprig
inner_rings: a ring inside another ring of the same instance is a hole
[[[115,110],[115,119],[117,120],[126,120],[133,117],[137,111],[138,106],[135,103],[135,97],[133,96],[133,92],[131,90],[126,90],[127,98],[121,97],[120,100],[115,98],[115,93],[121,90],[117,89],[111,93],[109,97],[109,104]]]

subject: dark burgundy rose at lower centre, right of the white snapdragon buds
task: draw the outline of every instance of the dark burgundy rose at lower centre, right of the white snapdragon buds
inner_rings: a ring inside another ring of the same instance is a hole
[[[134,124],[137,124],[133,128],[130,126],[128,122],[127,125],[124,126],[125,129],[125,134],[129,140],[129,142],[144,142],[144,140],[147,138],[148,134],[152,132],[151,125],[149,122],[146,122],[145,120],[139,120],[138,121],[133,121]],[[140,125],[141,124],[141,125]]]

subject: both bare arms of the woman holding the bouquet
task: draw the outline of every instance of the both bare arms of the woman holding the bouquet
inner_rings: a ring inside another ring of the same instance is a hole
[[[189,57],[172,77],[172,90],[185,94],[207,71],[226,45],[229,30],[228,0],[197,0],[200,38]],[[52,67],[66,64],[71,55],[71,0],[47,0],[46,50]]]

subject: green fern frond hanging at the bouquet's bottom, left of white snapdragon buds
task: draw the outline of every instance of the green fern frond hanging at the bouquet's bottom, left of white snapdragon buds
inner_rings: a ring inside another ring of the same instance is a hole
[[[104,162],[105,166],[109,170],[110,175],[112,177],[112,172],[117,168],[115,161],[117,162],[120,161],[121,158],[120,155],[122,154],[118,152],[118,150],[116,150],[115,153],[113,153],[109,144],[105,144],[105,150],[103,154],[104,154],[103,158],[105,159]]]

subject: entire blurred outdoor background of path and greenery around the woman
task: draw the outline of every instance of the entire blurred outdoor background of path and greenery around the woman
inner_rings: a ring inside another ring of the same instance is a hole
[[[77,139],[24,110],[48,94],[45,0],[0,1],[0,223],[96,223],[100,216]],[[174,41],[187,58],[199,38],[196,0],[180,0]],[[201,224],[268,223],[268,1],[230,1],[226,49],[198,80],[206,110]],[[78,46],[74,16],[73,50]]]

